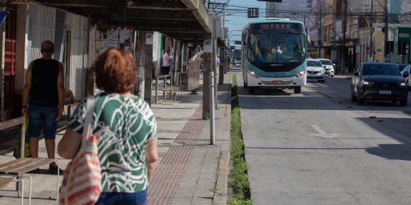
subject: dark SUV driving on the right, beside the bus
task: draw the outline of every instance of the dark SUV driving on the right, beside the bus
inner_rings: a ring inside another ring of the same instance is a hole
[[[407,106],[408,86],[404,77],[392,63],[364,62],[351,80],[351,101],[364,105],[366,100],[390,100]]]

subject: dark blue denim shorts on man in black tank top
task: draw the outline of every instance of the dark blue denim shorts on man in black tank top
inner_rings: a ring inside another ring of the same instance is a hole
[[[45,139],[55,139],[55,131],[57,130],[58,106],[42,107],[37,105],[29,105],[29,135],[30,137],[40,137],[41,128]]]

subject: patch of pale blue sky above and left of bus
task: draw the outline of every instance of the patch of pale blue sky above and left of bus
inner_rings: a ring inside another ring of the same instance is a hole
[[[241,29],[245,27],[247,23],[265,18],[266,1],[219,0],[215,2],[225,3],[227,1],[225,27],[228,27],[230,45],[234,46],[234,40],[241,40]],[[259,8],[260,18],[247,18],[247,8]],[[241,45],[236,45],[236,49],[240,49],[240,47]]]

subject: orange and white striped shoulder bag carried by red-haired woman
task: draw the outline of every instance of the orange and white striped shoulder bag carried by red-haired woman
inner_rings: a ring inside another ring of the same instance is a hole
[[[101,169],[96,135],[92,135],[95,98],[88,96],[82,146],[67,165],[60,187],[60,204],[95,204],[101,193]]]

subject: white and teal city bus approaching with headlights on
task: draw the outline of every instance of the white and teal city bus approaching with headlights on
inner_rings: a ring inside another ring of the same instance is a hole
[[[241,70],[249,93],[257,88],[294,89],[307,84],[308,35],[304,24],[266,18],[242,29]]]

